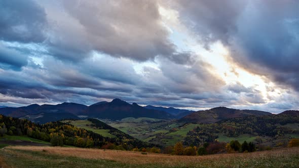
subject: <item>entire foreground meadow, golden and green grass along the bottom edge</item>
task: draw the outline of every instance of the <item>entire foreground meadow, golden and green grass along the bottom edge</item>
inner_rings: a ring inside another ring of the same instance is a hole
[[[0,167],[298,167],[299,148],[207,156],[14,146],[0,149]]]

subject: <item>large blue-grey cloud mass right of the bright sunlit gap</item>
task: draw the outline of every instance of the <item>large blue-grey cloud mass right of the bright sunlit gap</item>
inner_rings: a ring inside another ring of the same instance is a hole
[[[298,6],[298,1],[176,4],[181,19],[207,48],[221,40],[241,66],[296,90],[299,90]]]

